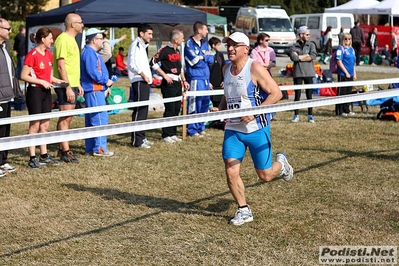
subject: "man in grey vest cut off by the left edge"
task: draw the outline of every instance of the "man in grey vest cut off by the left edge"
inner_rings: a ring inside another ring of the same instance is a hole
[[[0,119],[11,116],[11,100],[17,95],[16,90],[20,90],[19,82],[15,75],[14,63],[11,59],[9,47],[6,47],[7,40],[10,39],[11,26],[7,20],[0,18]],[[0,125],[0,138],[10,136],[11,125]],[[8,151],[0,151],[0,177],[9,172],[16,171],[16,168],[7,163]]]

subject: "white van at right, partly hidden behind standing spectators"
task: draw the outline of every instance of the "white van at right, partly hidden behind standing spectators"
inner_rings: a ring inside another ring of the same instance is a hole
[[[349,32],[354,26],[354,18],[352,14],[347,13],[319,13],[319,14],[300,14],[292,15],[291,24],[296,31],[300,26],[308,26],[310,31],[310,41],[314,42],[316,48],[321,50],[323,48],[322,35],[328,26],[332,27],[333,48],[339,45],[338,34],[341,27],[344,32]]]

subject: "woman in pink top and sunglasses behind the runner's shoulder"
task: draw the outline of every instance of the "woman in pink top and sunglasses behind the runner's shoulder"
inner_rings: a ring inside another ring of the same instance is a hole
[[[272,75],[271,68],[276,66],[276,53],[273,48],[269,47],[270,36],[266,33],[259,33],[257,38],[258,46],[251,52],[251,58],[261,63],[270,76]]]

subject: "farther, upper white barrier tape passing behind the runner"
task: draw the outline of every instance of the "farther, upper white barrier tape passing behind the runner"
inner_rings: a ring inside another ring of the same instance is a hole
[[[299,90],[306,88],[330,88],[330,87],[347,87],[347,86],[358,86],[358,85],[368,85],[368,84],[391,84],[391,83],[399,83],[399,78],[395,79],[382,79],[382,80],[367,80],[367,81],[349,81],[349,82],[338,82],[338,83],[319,83],[319,84],[309,84],[309,85],[283,85],[280,86],[281,90]],[[332,85],[334,84],[334,85]],[[223,90],[213,90],[213,91],[187,91],[186,96],[208,96],[208,95],[223,95]],[[81,108],[69,111],[60,111],[60,112],[51,112],[45,114],[35,114],[35,115],[27,115],[27,116],[17,116],[17,117],[8,117],[0,119],[0,125],[6,124],[14,124],[14,123],[22,123],[29,121],[38,121],[44,119],[51,119],[57,117],[65,117],[65,116],[74,116],[79,114],[88,114],[94,112],[103,112],[103,111],[112,111],[126,108],[133,108],[143,105],[158,105],[168,102],[176,102],[181,101],[181,97],[173,97],[173,98],[165,98],[162,100],[152,100],[152,101],[142,101],[142,102],[130,102],[123,104],[113,104],[113,105],[105,105],[98,107],[90,107],[90,108]]]

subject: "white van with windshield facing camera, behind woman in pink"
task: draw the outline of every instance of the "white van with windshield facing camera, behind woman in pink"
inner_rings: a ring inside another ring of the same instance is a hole
[[[290,19],[279,6],[241,7],[237,13],[235,30],[246,34],[251,46],[261,32],[270,35],[270,47],[277,54],[285,54],[295,43]]]

